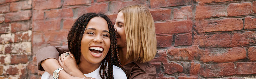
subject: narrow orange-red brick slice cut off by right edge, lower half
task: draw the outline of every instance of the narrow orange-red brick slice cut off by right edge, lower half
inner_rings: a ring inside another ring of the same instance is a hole
[[[247,47],[248,50],[248,58],[251,61],[256,61],[256,48],[255,47]]]

